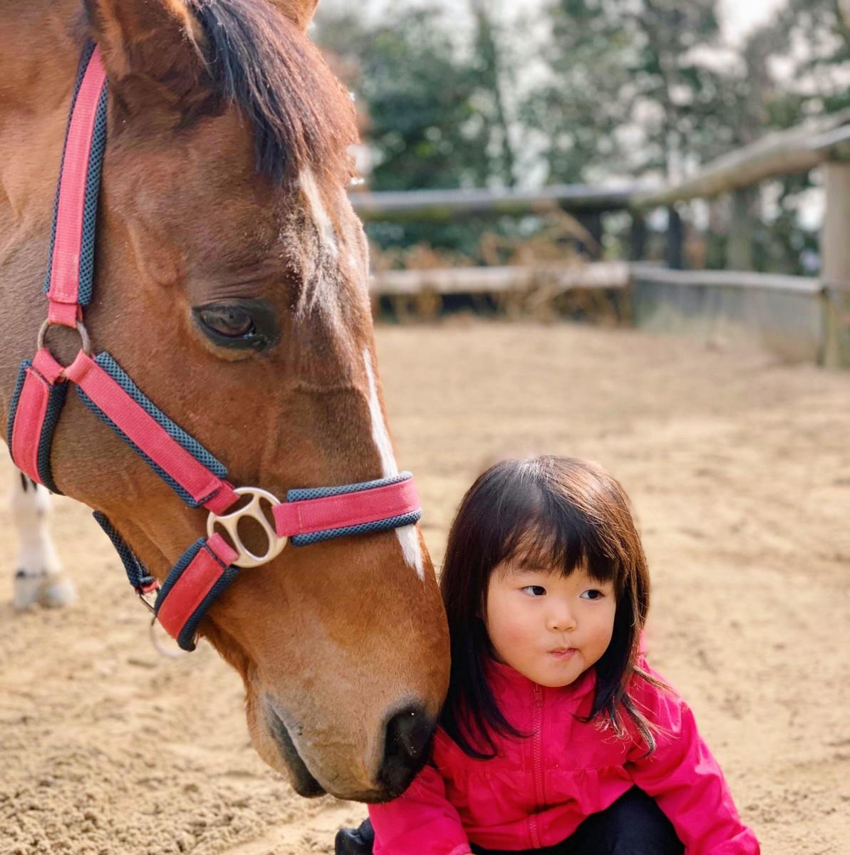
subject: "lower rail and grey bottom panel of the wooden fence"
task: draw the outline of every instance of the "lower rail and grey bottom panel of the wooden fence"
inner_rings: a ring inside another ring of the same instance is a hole
[[[391,270],[373,276],[376,299],[401,319],[428,320],[452,298],[509,316],[573,315],[712,342],[747,339],[794,362],[823,363],[828,292],[800,276],[670,270],[646,263]]]

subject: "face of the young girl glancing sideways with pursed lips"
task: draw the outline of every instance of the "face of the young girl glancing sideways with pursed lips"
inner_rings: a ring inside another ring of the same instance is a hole
[[[490,575],[485,624],[499,662],[540,686],[568,686],[607,649],[616,609],[612,583],[586,569],[564,576],[509,558]]]

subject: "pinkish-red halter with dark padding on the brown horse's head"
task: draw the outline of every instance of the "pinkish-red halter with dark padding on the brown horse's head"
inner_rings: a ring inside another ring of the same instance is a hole
[[[162,588],[107,517],[99,511],[94,514],[115,545],[136,593],[145,603],[146,594],[156,593],[156,602],[150,606],[156,619],[180,647],[191,651],[198,624],[240,568],[269,563],[287,542],[305,546],[412,525],[422,510],[409,472],[359,484],[290,490],[284,502],[258,487],[234,487],[226,480],[224,464],[159,410],[109,353],[91,355],[83,307],[91,301],[106,103],[100,50],[89,44],[80,62],[56,190],[44,283],[48,315],[38,332],[35,356],[21,363],[9,411],[7,445],[18,469],[52,492],[61,492],[50,468],[50,448],[68,386],[73,383],[86,407],[186,504],[210,511],[207,535],[183,553]],[[70,365],[58,363],[45,346],[46,334],[55,325],[80,333],[80,351]],[[247,504],[232,510],[245,498]],[[243,519],[254,520],[263,528],[268,548],[262,555],[252,553],[239,537]]]

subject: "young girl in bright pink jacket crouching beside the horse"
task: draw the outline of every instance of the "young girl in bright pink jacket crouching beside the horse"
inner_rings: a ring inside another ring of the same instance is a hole
[[[759,852],[688,705],[640,653],[646,558],[611,475],[569,457],[488,469],[440,587],[452,677],[432,758],[371,825],[339,832],[339,855]]]

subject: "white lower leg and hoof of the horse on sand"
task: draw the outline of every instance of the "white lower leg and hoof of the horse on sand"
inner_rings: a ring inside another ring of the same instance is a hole
[[[65,575],[50,537],[50,493],[26,475],[16,473],[10,504],[20,543],[15,609],[27,609],[36,603],[56,607],[73,603],[77,598],[74,584]]]

